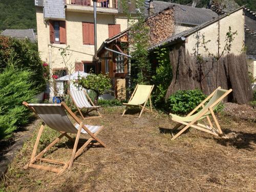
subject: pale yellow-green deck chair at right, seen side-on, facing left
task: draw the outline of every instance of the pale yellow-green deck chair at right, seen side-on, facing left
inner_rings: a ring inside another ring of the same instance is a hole
[[[231,89],[224,90],[224,89],[221,89],[221,87],[219,87],[214,92],[212,92],[203,102],[201,102],[193,111],[191,111],[186,117],[180,117],[178,115],[170,114],[170,116],[172,116],[172,120],[179,123],[172,130],[172,135],[174,130],[178,129],[181,125],[185,125],[185,127],[179,133],[177,133],[175,136],[173,135],[172,140],[180,136],[190,126],[198,130],[204,131],[206,133],[210,133],[212,135],[223,136],[220,124],[214,114],[214,110],[217,108],[221,100],[225,98],[231,91],[232,91]],[[208,100],[209,102],[204,106],[204,103],[207,102]],[[203,109],[198,113],[194,114],[201,107]],[[214,119],[217,129],[212,125],[209,115],[211,115],[212,118]],[[203,119],[205,117],[207,118],[207,121],[210,126],[197,123],[198,120]]]

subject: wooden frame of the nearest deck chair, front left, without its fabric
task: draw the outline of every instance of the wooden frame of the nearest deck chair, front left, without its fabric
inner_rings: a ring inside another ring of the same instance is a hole
[[[29,106],[29,104],[27,102],[23,102],[24,105],[26,105],[31,111],[33,111],[34,113],[35,110],[33,109],[33,107]],[[79,124],[79,129],[77,131],[77,134],[76,134],[76,138],[75,140],[70,137],[68,135],[67,132],[60,132],[61,134],[52,142],[50,143],[44,150],[42,150],[40,153],[38,153],[36,155],[36,152],[37,152],[37,146],[38,146],[38,143],[39,143],[39,140],[40,140],[40,137],[41,137],[41,134],[42,134],[42,131],[44,131],[45,129],[45,123],[43,122],[40,126],[40,129],[39,129],[39,132],[38,132],[38,135],[36,137],[36,141],[35,141],[35,144],[34,144],[34,147],[33,147],[33,152],[31,154],[31,158],[30,158],[30,161],[28,164],[26,164],[23,168],[24,169],[27,169],[29,167],[31,168],[37,168],[37,169],[42,169],[42,170],[47,170],[47,171],[50,171],[50,172],[55,172],[57,173],[57,175],[60,175],[62,174],[68,167],[69,169],[73,166],[73,162],[74,162],[74,159],[76,159],[79,155],[82,154],[84,148],[86,148],[93,140],[96,140],[98,143],[100,143],[103,147],[106,147],[106,145],[98,138],[96,137],[98,135],[98,133],[103,129],[103,126],[100,127],[100,129],[96,132],[96,133],[92,133],[89,131],[89,129],[86,127],[86,125],[83,124],[83,122],[78,118],[76,117],[76,115],[69,109],[69,107],[66,105],[65,102],[61,102],[61,106],[66,110],[68,111],[68,113],[74,118],[74,120]],[[81,134],[81,130],[84,130],[86,131],[90,136],[91,138],[89,138],[85,143],[83,143],[83,145],[77,150],[77,145],[78,145],[78,142],[79,142],[79,138],[80,138],[80,134]],[[52,159],[46,159],[46,158],[41,158],[42,155],[44,155],[47,151],[50,150],[50,148],[55,145],[57,142],[60,141],[60,139],[63,137],[63,136],[66,136],[70,141],[74,142],[74,147],[73,147],[73,151],[72,151],[72,155],[70,157],[70,160],[67,161],[67,162],[62,162],[62,161],[58,161],[58,160],[52,160]],[[49,166],[42,166],[42,165],[38,165],[38,164],[34,164],[36,161],[44,161],[44,162],[48,162],[48,163],[53,163],[53,164],[61,164],[63,165],[62,168],[54,168],[54,167],[49,167]]]

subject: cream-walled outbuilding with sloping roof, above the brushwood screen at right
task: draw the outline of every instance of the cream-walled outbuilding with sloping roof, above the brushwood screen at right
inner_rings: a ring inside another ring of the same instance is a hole
[[[194,8],[194,9],[197,9],[197,8]],[[197,17],[194,17],[193,19],[196,19],[196,18]],[[207,43],[208,51],[212,54],[216,54],[218,49],[218,45],[216,43],[217,35],[218,35],[218,25],[217,25],[218,19],[220,19],[221,46],[224,45],[225,36],[230,26],[231,31],[233,32],[237,31],[237,35],[232,42],[232,47],[230,52],[234,54],[240,54],[244,45],[243,7],[235,9],[226,14],[223,14],[220,16],[220,18],[218,17],[212,18],[200,25],[197,25],[196,27],[192,27],[187,30],[184,30],[181,33],[174,33],[172,36],[153,45],[148,50],[153,51],[154,49],[159,47],[169,47],[170,49],[172,49],[176,46],[182,45],[185,47],[186,51],[188,51],[189,53],[193,53],[195,46],[198,42],[198,38],[196,37],[196,34],[201,34],[201,35],[204,34],[205,40],[206,41],[210,40]],[[205,54],[205,49],[203,47],[199,47],[198,53]]]

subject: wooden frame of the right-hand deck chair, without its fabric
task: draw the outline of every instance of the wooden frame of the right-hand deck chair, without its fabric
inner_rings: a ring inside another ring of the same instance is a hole
[[[218,89],[220,89],[221,87],[218,87]],[[220,124],[214,114],[214,110],[212,108],[214,108],[214,106],[220,102],[223,98],[225,98],[230,92],[232,92],[232,89],[228,90],[225,94],[223,94],[218,100],[216,100],[214,103],[212,103],[209,108],[204,108],[204,103],[206,101],[208,101],[212,96],[214,96],[214,94],[216,93],[216,91],[218,90],[216,89],[214,92],[212,92],[205,100],[203,100],[193,111],[191,111],[186,117],[189,117],[191,115],[193,115],[200,107],[203,108],[203,112],[197,116],[193,121],[190,121],[189,123],[188,122],[184,122],[184,121],[179,121],[179,120],[176,120],[176,119],[172,119],[173,121],[176,121],[178,122],[178,124],[172,129],[172,140],[176,139],[177,137],[179,137],[184,131],[186,131],[189,127],[193,127],[195,129],[198,129],[198,130],[201,130],[201,131],[204,131],[206,133],[209,133],[209,134],[212,134],[212,135],[215,135],[215,136],[224,136],[223,135],[223,132],[221,130],[221,127],[220,127]],[[197,121],[202,117],[204,116],[207,112],[210,111],[210,114],[212,116],[212,118],[214,119],[214,122],[217,126],[217,129],[212,125],[212,122],[210,121],[210,117],[209,115],[206,116],[207,118],[207,121],[209,123],[209,126],[208,125],[204,125],[204,124],[201,124],[201,123],[198,123]],[[173,131],[174,130],[177,130],[181,125],[185,125],[185,127],[183,129],[181,129],[175,136],[173,135]]]

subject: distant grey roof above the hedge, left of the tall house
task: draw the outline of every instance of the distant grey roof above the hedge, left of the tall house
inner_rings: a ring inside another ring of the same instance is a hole
[[[6,29],[1,35],[19,39],[28,38],[31,42],[36,41],[33,29]]]

